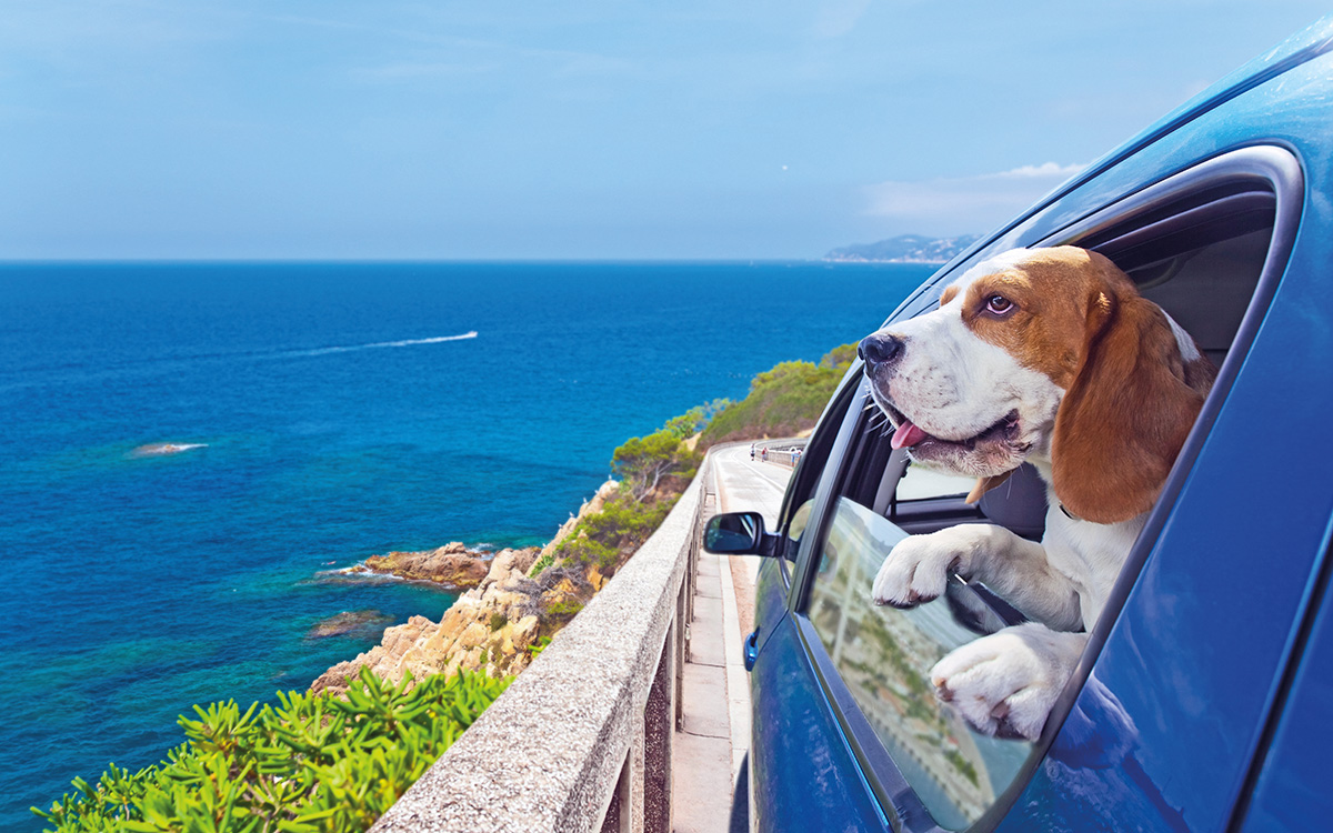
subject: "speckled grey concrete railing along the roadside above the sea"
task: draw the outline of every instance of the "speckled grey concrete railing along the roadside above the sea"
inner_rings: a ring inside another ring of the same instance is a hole
[[[656,533],[375,824],[425,833],[672,829],[672,732],[693,616],[700,476]]]

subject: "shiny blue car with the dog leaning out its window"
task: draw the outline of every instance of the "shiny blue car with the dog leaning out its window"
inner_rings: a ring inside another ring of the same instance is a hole
[[[1016,247],[1125,271],[1220,373],[1089,645],[1034,742],[988,737],[928,669],[1022,621],[954,578],[870,604],[905,534],[992,522],[1042,534],[1034,478],[970,481],[890,448],[860,365],[757,552],[750,824],[758,830],[1333,829],[1333,19],[1196,97],[973,245],[889,321]],[[1108,424],[1105,430],[1117,430]],[[1024,485],[1026,482],[1026,485]]]

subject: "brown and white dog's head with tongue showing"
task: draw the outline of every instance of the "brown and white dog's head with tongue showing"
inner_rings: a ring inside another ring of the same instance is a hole
[[[1073,247],[993,257],[860,353],[894,448],[978,477],[973,498],[1049,460],[1060,501],[1102,524],[1152,506],[1216,375],[1129,276]]]

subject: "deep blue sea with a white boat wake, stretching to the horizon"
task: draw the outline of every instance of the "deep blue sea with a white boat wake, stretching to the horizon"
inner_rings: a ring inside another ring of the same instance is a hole
[[[0,264],[0,829],[453,601],[337,569],[545,542],[628,437],[861,339],[932,271]],[[312,633],[340,612],[371,621]]]

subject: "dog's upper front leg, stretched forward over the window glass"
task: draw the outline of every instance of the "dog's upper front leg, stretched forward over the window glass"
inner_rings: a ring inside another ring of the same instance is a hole
[[[938,598],[949,574],[984,581],[1029,618],[1057,630],[1082,626],[1078,590],[1041,544],[993,524],[958,524],[898,541],[874,576],[877,605],[913,608]]]

